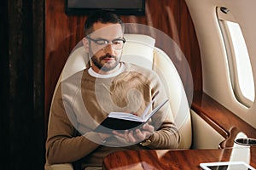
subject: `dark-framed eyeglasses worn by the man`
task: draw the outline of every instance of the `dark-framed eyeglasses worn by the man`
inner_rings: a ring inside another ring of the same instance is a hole
[[[124,44],[126,42],[125,38],[116,38],[113,39],[112,41],[108,41],[106,39],[98,38],[98,39],[93,39],[91,37],[86,37],[92,42],[95,42],[96,47],[100,49],[104,49],[108,46],[108,43],[111,43],[113,45],[114,49],[122,49],[124,47]]]

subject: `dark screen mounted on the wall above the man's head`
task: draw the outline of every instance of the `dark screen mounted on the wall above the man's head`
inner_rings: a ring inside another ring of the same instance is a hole
[[[90,14],[99,9],[119,15],[145,14],[145,0],[66,0],[66,14]]]

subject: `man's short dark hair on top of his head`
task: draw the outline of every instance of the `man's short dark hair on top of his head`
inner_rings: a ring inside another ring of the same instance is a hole
[[[91,32],[94,31],[93,24],[97,22],[101,22],[102,24],[120,24],[121,26],[123,24],[122,20],[120,20],[119,16],[116,14],[104,10],[96,11],[95,13],[90,14],[84,23],[85,36],[88,36]]]

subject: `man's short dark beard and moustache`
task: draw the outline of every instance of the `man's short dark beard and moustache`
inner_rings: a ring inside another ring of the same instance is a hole
[[[106,59],[106,58],[113,58],[115,60],[114,65],[112,64],[102,64],[102,60]],[[95,55],[93,55],[91,57],[91,61],[93,62],[94,65],[96,65],[96,67],[100,70],[100,71],[112,71],[117,65],[119,65],[119,60],[117,59],[116,56],[114,55],[110,55],[110,54],[106,54],[102,57],[100,57],[100,59],[96,59]]]

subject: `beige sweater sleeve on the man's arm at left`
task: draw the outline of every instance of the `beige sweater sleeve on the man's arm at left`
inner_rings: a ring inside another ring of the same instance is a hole
[[[61,88],[59,88],[56,91],[55,99],[53,99],[49,116],[46,140],[48,164],[78,161],[99,146],[84,136],[76,135],[77,131],[66,113],[67,110],[72,109],[69,105],[64,107],[63,102],[65,101],[61,98]],[[92,135],[95,135],[94,138],[100,138],[96,133]]]

